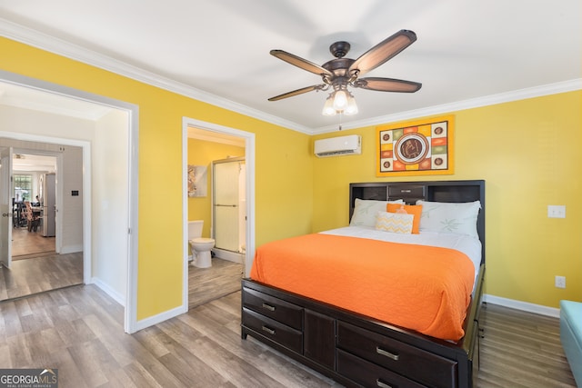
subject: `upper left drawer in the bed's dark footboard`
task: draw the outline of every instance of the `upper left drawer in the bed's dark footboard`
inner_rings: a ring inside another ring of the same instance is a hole
[[[274,296],[249,288],[243,288],[243,306],[285,323],[294,329],[303,329],[303,308]]]

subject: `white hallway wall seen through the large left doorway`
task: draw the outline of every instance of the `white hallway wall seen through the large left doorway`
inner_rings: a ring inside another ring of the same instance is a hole
[[[119,303],[125,303],[127,279],[127,193],[128,117],[116,111],[98,121],[83,120],[60,114],[0,105],[0,132],[34,134],[44,142],[1,139],[0,146],[17,147],[63,154],[64,209],[63,251],[83,250],[82,204],[92,198],[91,279]],[[81,147],[51,144],[50,138],[91,143],[90,166],[83,165]],[[83,193],[85,168],[92,168],[92,195]],[[71,195],[78,190],[79,196]]]

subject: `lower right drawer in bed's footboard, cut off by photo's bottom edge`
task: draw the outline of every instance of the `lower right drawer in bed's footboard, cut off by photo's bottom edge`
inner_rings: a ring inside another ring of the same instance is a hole
[[[367,362],[353,354],[337,350],[337,373],[365,387],[380,388],[423,388],[425,385],[415,383],[391,372],[375,363]]]

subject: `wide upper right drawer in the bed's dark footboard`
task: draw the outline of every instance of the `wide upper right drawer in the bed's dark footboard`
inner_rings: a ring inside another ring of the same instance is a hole
[[[457,362],[454,360],[340,321],[337,322],[336,341],[338,348],[396,373],[414,377],[426,385],[457,386]]]

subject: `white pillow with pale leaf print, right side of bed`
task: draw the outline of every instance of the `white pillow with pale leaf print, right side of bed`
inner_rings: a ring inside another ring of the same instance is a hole
[[[422,204],[420,232],[467,234],[479,238],[477,234],[477,215],[481,209],[479,201],[447,203],[418,200],[416,204]]]

